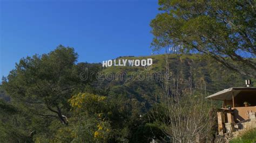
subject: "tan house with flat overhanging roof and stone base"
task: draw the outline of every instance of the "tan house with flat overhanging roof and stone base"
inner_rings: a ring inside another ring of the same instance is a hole
[[[218,109],[218,131],[224,133],[256,127],[256,88],[233,87],[206,97],[223,101]]]

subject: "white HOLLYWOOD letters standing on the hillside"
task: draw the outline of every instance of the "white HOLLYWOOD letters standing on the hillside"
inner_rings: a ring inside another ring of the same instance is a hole
[[[143,60],[108,60],[102,62],[102,67],[111,67],[111,66],[151,66],[153,64],[153,59],[143,59]]]

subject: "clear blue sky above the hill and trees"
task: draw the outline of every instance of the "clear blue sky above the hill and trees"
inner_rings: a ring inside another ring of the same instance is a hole
[[[59,44],[75,48],[78,62],[150,55],[149,24],[158,12],[157,0],[0,0],[0,76]]]

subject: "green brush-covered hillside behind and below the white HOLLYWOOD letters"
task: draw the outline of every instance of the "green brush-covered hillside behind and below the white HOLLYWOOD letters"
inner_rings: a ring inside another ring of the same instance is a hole
[[[150,78],[148,80],[146,73],[152,75],[153,73],[165,74],[165,59],[166,55],[152,55],[152,56],[140,56],[140,57],[122,57],[117,59],[153,59],[153,65],[150,69],[144,67],[122,67],[112,66],[102,70],[103,73],[119,73],[119,75],[113,76],[111,80],[105,79],[104,81],[97,81],[96,86],[98,88],[108,89],[113,92],[127,92],[127,96],[136,97],[139,101],[148,100],[156,95],[159,95],[163,91],[164,79],[159,80]],[[217,63],[210,58],[207,58],[200,54],[169,54],[169,73],[172,75],[173,80],[179,84],[180,90],[186,94],[191,91],[197,91],[203,93],[205,96],[211,95],[217,91],[230,87],[245,87],[245,79],[247,77],[241,76],[234,71],[228,70],[220,63]],[[138,79],[138,72],[145,76],[145,79]],[[120,78],[122,73],[123,78]],[[131,78],[132,73],[133,78]],[[109,74],[110,75],[110,74]],[[125,77],[126,76],[126,80]],[[132,79],[132,80],[131,80]],[[255,83],[255,80],[253,80]],[[162,93],[163,94],[163,93]],[[151,101],[152,102],[152,101]]]

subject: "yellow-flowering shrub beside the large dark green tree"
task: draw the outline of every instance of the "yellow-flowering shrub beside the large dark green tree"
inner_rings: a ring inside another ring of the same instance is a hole
[[[111,115],[107,106],[106,96],[90,93],[79,93],[69,99],[69,103],[80,117],[91,117],[96,123],[92,125],[92,138],[95,142],[106,142],[110,138],[111,125],[107,116]],[[76,138],[76,132],[70,132]]]

